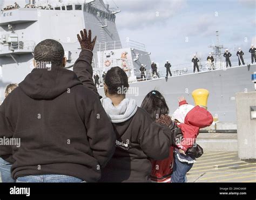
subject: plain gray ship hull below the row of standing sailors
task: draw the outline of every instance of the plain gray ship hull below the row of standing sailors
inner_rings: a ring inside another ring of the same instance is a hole
[[[247,66],[240,66],[197,74],[184,74],[168,79],[134,82],[130,84],[132,89],[127,97],[136,99],[137,105],[140,106],[146,94],[156,89],[165,96],[170,113],[173,113],[178,107],[179,96],[185,96],[189,104],[194,104],[191,95],[193,90],[205,88],[210,92],[208,111],[219,121],[235,122],[235,93],[254,91],[251,74],[255,71],[256,65],[254,64],[250,66],[250,70]],[[105,96],[103,88],[99,88],[98,91],[100,95]]]

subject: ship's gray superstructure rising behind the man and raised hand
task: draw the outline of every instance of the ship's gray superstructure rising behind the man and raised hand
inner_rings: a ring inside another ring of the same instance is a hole
[[[120,11],[109,8],[102,0],[17,2],[19,8],[7,10],[4,8],[9,4],[2,2],[0,76],[5,85],[20,82],[30,73],[33,49],[44,39],[55,39],[63,45],[66,67],[72,70],[80,52],[76,35],[84,27],[97,35],[93,68],[100,76],[112,66],[122,66],[134,81],[135,69],[141,63],[150,65],[144,44],[120,40],[115,24]]]

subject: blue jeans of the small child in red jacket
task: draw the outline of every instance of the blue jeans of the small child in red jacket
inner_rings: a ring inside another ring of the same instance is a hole
[[[171,175],[171,182],[172,183],[187,182],[186,174],[192,168],[194,163],[181,162],[179,161],[176,155],[173,157],[174,157],[174,164],[173,164],[173,172]]]

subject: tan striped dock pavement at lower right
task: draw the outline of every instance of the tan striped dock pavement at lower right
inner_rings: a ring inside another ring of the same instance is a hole
[[[241,161],[236,151],[205,151],[187,173],[188,182],[256,182],[256,161]]]

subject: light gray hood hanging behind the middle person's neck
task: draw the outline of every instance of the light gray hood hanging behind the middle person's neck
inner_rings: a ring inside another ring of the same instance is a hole
[[[110,98],[103,98],[102,106],[112,123],[121,123],[129,120],[138,109],[134,99],[124,99],[118,106],[114,106]]]

